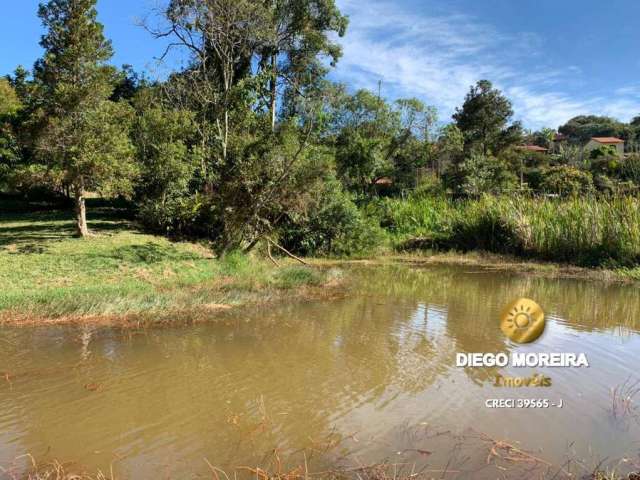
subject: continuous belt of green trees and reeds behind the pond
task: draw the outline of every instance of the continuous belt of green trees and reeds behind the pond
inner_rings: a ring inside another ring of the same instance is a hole
[[[0,80],[0,190],[67,199],[81,236],[84,199],[97,193],[129,200],[149,229],[206,238],[220,253],[268,240],[358,255],[425,237],[637,260],[637,239],[611,222],[637,228],[640,117],[527,132],[488,80],[444,124],[418,99],[387,101],[382,86],[351,91],[326,78],[348,25],[334,0],[167,0],[146,28],[171,38],[184,67],[150,81],[109,64],[95,5],[44,2],[42,58]],[[625,155],[585,150],[594,136],[623,139]]]

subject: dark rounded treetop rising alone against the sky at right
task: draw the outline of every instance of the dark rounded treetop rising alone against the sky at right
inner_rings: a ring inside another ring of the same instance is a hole
[[[479,149],[484,155],[498,154],[520,141],[519,123],[508,126],[513,116],[511,102],[493,88],[488,80],[480,80],[457,108],[453,119],[464,136],[465,152]]]

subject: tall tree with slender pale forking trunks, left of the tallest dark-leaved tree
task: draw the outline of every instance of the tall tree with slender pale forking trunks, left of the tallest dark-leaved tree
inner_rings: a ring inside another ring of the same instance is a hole
[[[166,92],[176,106],[196,113],[209,188],[229,160],[235,127],[256,102],[259,82],[253,81],[252,62],[267,39],[268,13],[263,3],[251,0],[171,0],[164,11],[168,26],[147,26],[156,38],[174,40],[168,48],[185,49],[190,56],[190,65],[170,78]]]

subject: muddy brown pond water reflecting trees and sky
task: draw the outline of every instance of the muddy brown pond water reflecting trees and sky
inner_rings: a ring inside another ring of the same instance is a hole
[[[610,391],[640,379],[637,287],[474,267],[348,275],[345,298],[196,326],[0,329],[0,465],[17,472],[30,453],[118,478],[210,478],[205,459],[229,470],[273,463],[275,451],[283,469],[458,462],[446,478],[480,478],[468,472],[486,452],[451,462],[452,436],[468,432],[554,464],[637,459],[639,423],[633,412],[613,418]],[[498,319],[522,296],[548,322],[517,346]],[[590,367],[464,369],[457,352],[584,352]],[[496,374],[533,373],[552,386],[493,386]],[[564,407],[488,409],[488,398]]]

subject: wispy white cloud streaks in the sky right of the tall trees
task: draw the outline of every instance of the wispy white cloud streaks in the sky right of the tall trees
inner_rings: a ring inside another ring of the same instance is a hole
[[[583,81],[581,69],[548,65],[544,41],[534,33],[509,36],[460,13],[418,15],[386,1],[338,4],[351,22],[335,75],[372,90],[382,80],[385,94],[417,96],[437,106],[445,121],[469,87],[485,78],[511,98],[515,117],[531,128],[556,127],[580,114],[628,120],[640,112],[637,86],[606,98],[568,93],[563,87]]]

